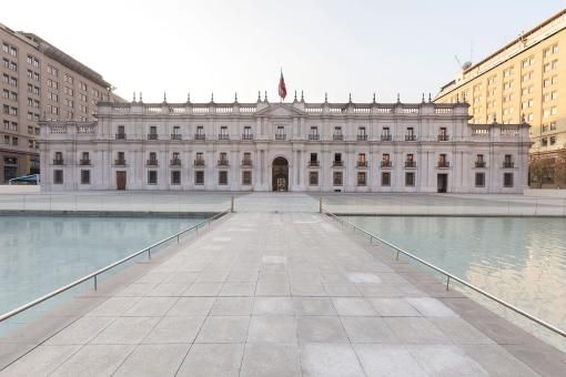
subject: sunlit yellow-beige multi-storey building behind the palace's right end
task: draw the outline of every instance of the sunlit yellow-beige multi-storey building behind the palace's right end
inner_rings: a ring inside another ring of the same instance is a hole
[[[469,103],[471,123],[530,124],[530,156],[566,147],[566,10],[520,34],[441,89],[437,103]],[[564,185],[555,161],[545,183]],[[532,175],[533,179],[533,175]],[[535,179],[536,180],[536,179]]]

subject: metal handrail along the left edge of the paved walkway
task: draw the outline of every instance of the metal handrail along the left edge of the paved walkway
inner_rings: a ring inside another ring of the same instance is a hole
[[[98,276],[99,276],[100,274],[105,273],[107,271],[112,269],[112,268],[114,268],[115,266],[119,266],[119,265],[121,265],[122,263],[128,262],[128,261],[130,261],[130,259],[132,259],[132,258],[137,257],[138,255],[143,254],[143,253],[148,253],[148,257],[151,259],[151,249],[152,249],[153,247],[156,247],[156,246],[159,246],[159,245],[162,245],[162,244],[164,244],[164,243],[166,243],[166,242],[169,242],[169,241],[171,241],[171,240],[173,240],[173,238],[176,238],[176,243],[179,243],[179,237],[180,237],[182,234],[184,234],[184,233],[186,233],[186,232],[190,232],[190,231],[192,231],[192,230],[195,230],[196,232],[199,232],[199,227],[201,227],[203,224],[208,224],[208,225],[210,226],[210,223],[211,223],[212,221],[214,221],[214,220],[216,220],[216,218],[220,218],[220,217],[224,216],[226,213],[228,213],[228,212],[225,212],[225,211],[220,212],[220,213],[215,214],[214,216],[209,217],[209,218],[204,220],[203,222],[201,222],[201,223],[199,223],[199,224],[196,224],[196,225],[193,225],[193,226],[188,227],[186,230],[183,230],[183,231],[181,231],[181,232],[179,232],[179,233],[175,233],[175,234],[173,234],[173,235],[171,235],[171,236],[169,236],[169,237],[166,237],[166,238],[163,238],[163,240],[161,240],[161,241],[158,241],[156,243],[154,243],[154,244],[152,244],[152,245],[150,245],[150,246],[148,246],[148,247],[144,247],[144,248],[142,248],[142,249],[140,249],[140,251],[138,251],[138,252],[135,252],[135,253],[133,253],[133,254],[130,254],[130,255],[128,255],[128,256],[123,257],[122,259],[120,259],[120,261],[118,261],[118,262],[114,262],[114,263],[112,263],[112,264],[110,264],[110,265],[108,265],[108,266],[105,266],[105,267],[102,267],[102,268],[100,268],[100,269],[98,269],[98,271],[95,271],[95,272],[93,272],[93,273],[90,273],[89,275],[83,276],[83,277],[81,277],[81,278],[79,278],[79,279],[77,279],[77,281],[74,281],[74,282],[72,282],[72,283],[69,283],[69,284],[68,284],[68,285],[65,285],[65,286],[62,286],[62,287],[60,287],[60,288],[58,288],[58,289],[55,289],[55,291],[52,291],[52,292],[48,293],[47,295],[43,295],[43,296],[41,296],[41,297],[39,297],[39,298],[36,298],[36,299],[34,299],[34,300],[32,300],[32,302],[29,302],[28,304],[24,304],[24,305],[19,306],[19,307],[17,307],[17,308],[14,308],[14,309],[12,309],[12,310],[8,312],[8,313],[4,313],[4,314],[2,314],[2,315],[0,316],[0,323],[2,323],[2,322],[3,322],[3,320],[6,320],[6,319],[9,319],[9,318],[13,317],[13,316],[14,316],[14,315],[17,315],[17,314],[20,314],[20,313],[22,313],[22,312],[24,312],[24,310],[27,310],[27,309],[32,308],[32,307],[34,307],[36,305],[41,304],[41,303],[43,303],[43,302],[48,300],[48,299],[49,299],[49,298],[51,298],[51,297],[54,297],[54,296],[57,296],[57,295],[59,295],[59,294],[61,294],[61,293],[63,293],[63,292],[67,292],[67,291],[69,291],[69,289],[71,289],[71,288],[73,288],[73,287],[78,286],[79,284],[82,284],[82,283],[87,282],[87,281],[93,279],[93,281],[94,281],[94,289],[97,289],[97,288],[98,288]]]

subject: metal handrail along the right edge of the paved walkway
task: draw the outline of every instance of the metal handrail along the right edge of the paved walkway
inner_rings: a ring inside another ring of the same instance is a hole
[[[456,281],[456,282],[458,282],[459,284],[462,284],[462,285],[464,285],[464,286],[466,286],[466,287],[468,287],[468,288],[471,288],[471,289],[473,289],[473,291],[475,291],[475,292],[477,292],[477,293],[479,293],[479,294],[484,295],[485,297],[491,298],[491,299],[493,299],[494,302],[496,302],[496,303],[498,303],[498,304],[501,304],[501,305],[505,306],[506,308],[512,309],[513,312],[515,312],[515,313],[517,313],[517,314],[519,314],[519,315],[524,316],[525,318],[528,318],[528,319],[530,319],[530,320],[533,320],[533,322],[537,323],[538,325],[540,325],[540,326],[543,326],[543,327],[546,327],[546,328],[547,328],[547,329],[549,329],[550,332],[553,332],[553,333],[555,333],[555,334],[558,334],[558,335],[560,335],[560,336],[563,336],[563,337],[566,337],[566,332],[565,332],[565,330],[563,330],[563,329],[560,329],[560,328],[558,328],[558,327],[556,327],[556,326],[554,326],[554,325],[552,325],[552,324],[547,323],[546,320],[543,320],[543,319],[540,319],[540,318],[537,318],[537,317],[535,317],[534,315],[528,314],[527,312],[525,312],[525,310],[523,310],[523,309],[519,309],[518,307],[516,307],[516,306],[514,306],[514,305],[512,305],[512,304],[509,304],[509,303],[507,303],[507,302],[505,302],[505,300],[503,300],[503,299],[501,299],[501,298],[498,298],[498,297],[495,297],[494,295],[492,295],[492,294],[489,294],[489,293],[485,292],[484,289],[482,289],[482,288],[479,288],[479,287],[476,287],[476,286],[475,286],[475,285],[473,285],[472,283],[468,283],[468,282],[466,282],[466,281],[463,281],[462,278],[459,278],[459,277],[457,277],[457,276],[455,276],[455,275],[453,275],[453,274],[451,274],[451,273],[448,273],[448,272],[446,272],[446,271],[442,269],[441,267],[437,267],[437,266],[433,265],[432,263],[428,263],[428,262],[426,262],[426,261],[424,261],[424,259],[420,258],[418,256],[416,256],[416,255],[414,255],[414,254],[412,254],[412,253],[410,253],[410,252],[406,252],[406,251],[402,249],[401,247],[395,246],[394,244],[392,244],[392,243],[390,243],[390,242],[387,242],[387,241],[385,241],[385,240],[383,240],[383,238],[377,237],[376,235],[374,235],[374,234],[372,234],[372,233],[370,233],[370,232],[367,232],[367,231],[365,231],[365,230],[363,230],[363,228],[358,227],[357,225],[354,225],[354,224],[352,224],[351,222],[348,222],[348,221],[346,221],[346,220],[340,218],[338,216],[336,216],[336,215],[335,215],[335,214],[333,214],[333,213],[330,213],[330,212],[326,212],[326,211],[325,211],[324,213],[326,213],[326,215],[329,215],[329,216],[333,217],[334,220],[336,220],[338,223],[341,223],[341,225],[347,224],[347,225],[352,226],[352,228],[354,228],[354,231],[355,231],[355,230],[357,230],[357,231],[360,231],[360,232],[364,233],[365,235],[370,236],[370,244],[372,244],[372,243],[373,243],[373,240],[377,240],[377,241],[380,241],[380,242],[384,243],[385,245],[387,245],[387,246],[390,246],[390,247],[394,248],[394,249],[397,252],[397,254],[396,254],[396,256],[395,256],[395,259],[397,259],[397,261],[398,261],[398,256],[400,256],[400,254],[403,254],[403,255],[406,255],[406,256],[408,256],[408,257],[411,257],[411,258],[415,259],[416,262],[418,262],[418,263],[421,263],[421,264],[424,264],[425,266],[427,266],[427,267],[429,267],[429,268],[432,268],[432,269],[436,271],[437,273],[443,274],[444,276],[446,276],[446,291],[448,291],[451,279]]]

